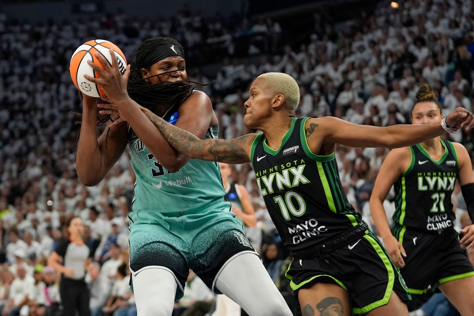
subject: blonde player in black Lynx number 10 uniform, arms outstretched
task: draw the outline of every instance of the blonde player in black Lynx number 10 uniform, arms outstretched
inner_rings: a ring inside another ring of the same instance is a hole
[[[351,304],[355,314],[408,315],[402,299],[409,299],[409,294],[397,268],[343,193],[334,163],[335,144],[390,148],[418,144],[443,134],[447,126],[471,129],[473,115],[457,108],[444,127],[439,122],[374,127],[335,117],[297,119],[298,84],[275,72],[260,75],[249,95],[244,123],[264,135],[203,141],[141,109],[175,149],[191,158],[253,164],[273,222],[296,259],[286,275],[303,315],[320,312],[320,303],[327,298],[337,298],[342,303],[339,313],[345,316]],[[138,105],[107,106],[120,111]]]

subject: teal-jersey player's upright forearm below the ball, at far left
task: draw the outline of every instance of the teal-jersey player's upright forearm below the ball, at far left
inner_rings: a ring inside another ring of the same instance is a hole
[[[102,158],[97,142],[97,112],[94,107],[83,107],[81,133],[77,144],[76,172],[79,180],[90,185],[97,182],[100,175]],[[100,180],[99,180],[100,181]]]

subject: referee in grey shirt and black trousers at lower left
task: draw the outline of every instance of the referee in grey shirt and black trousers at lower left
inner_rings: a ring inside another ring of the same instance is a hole
[[[67,223],[68,239],[59,242],[48,259],[48,265],[61,273],[59,294],[64,316],[89,316],[89,289],[84,281],[86,266],[91,263],[91,250],[82,241],[84,226],[79,217]],[[60,264],[59,261],[63,262]]]

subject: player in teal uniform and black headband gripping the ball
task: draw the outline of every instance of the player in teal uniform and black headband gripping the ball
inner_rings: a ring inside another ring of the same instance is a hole
[[[89,63],[101,80],[118,69],[97,55],[106,71]],[[216,138],[218,120],[209,97],[192,90],[182,46],[150,38],[132,57],[117,91],[98,82],[113,103],[140,102],[152,113],[200,139]],[[128,91],[127,91],[128,90]],[[120,93],[118,93],[120,92]],[[130,99],[131,98],[131,99]],[[107,98],[104,98],[109,100]],[[138,315],[170,316],[182,297],[189,269],[216,293],[228,295],[249,315],[291,315],[289,307],[225,202],[217,163],[174,150],[138,107],[114,117],[116,128],[96,135],[97,101],[84,98],[76,169],[82,183],[99,183],[128,144],[137,177],[130,221],[130,270]],[[125,119],[126,118],[126,119]]]

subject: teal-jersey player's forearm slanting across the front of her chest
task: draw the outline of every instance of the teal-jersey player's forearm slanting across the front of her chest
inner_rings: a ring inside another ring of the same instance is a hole
[[[146,148],[165,169],[174,172],[188,162],[189,159],[177,153],[162,133],[156,130],[155,125],[138,108],[135,101],[127,99],[122,100],[121,103],[120,111],[122,115],[127,119],[128,124]]]

